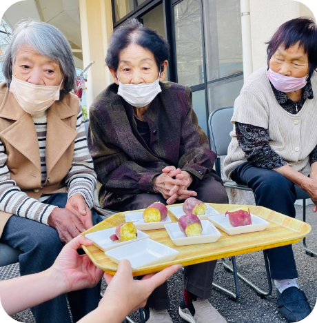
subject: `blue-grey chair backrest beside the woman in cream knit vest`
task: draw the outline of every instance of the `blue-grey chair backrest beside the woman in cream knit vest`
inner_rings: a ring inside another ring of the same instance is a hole
[[[212,141],[211,146],[218,156],[227,155],[228,146],[231,141],[229,133],[233,129],[230,122],[233,114],[234,107],[227,106],[214,110],[209,117],[208,126]]]

